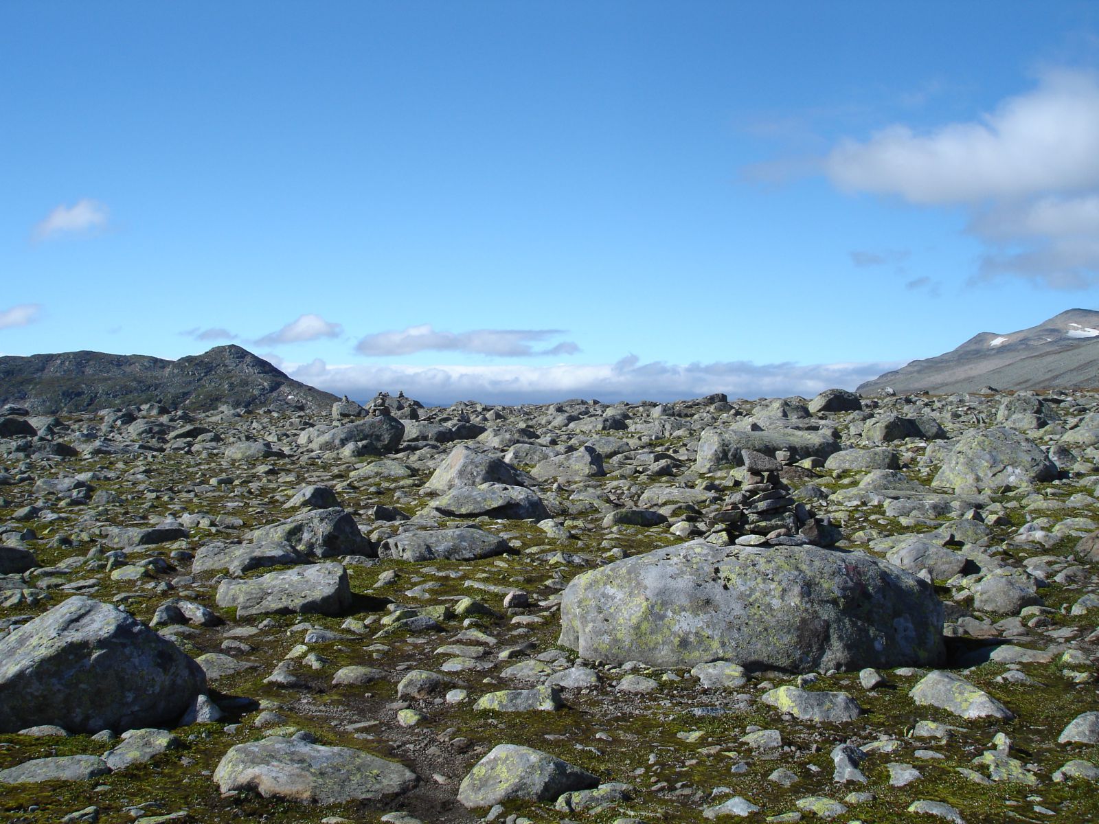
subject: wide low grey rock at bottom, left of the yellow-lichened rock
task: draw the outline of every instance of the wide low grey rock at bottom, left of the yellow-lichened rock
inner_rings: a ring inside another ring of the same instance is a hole
[[[264,798],[338,804],[392,799],[419,778],[403,765],[358,749],[270,736],[230,748],[213,780],[222,792],[251,790]]]

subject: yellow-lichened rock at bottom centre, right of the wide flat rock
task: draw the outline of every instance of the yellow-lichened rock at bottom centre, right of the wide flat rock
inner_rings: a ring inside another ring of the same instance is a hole
[[[566,792],[598,786],[596,776],[548,753],[500,744],[462,779],[458,801],[468,809],[506,801],[556,801]]]

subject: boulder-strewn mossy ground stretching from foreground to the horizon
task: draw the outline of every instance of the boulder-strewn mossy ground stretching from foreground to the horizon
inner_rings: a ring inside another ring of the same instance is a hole
[[[1096,820],[1099,394],[393,408],[0,415],[0,820]]]

